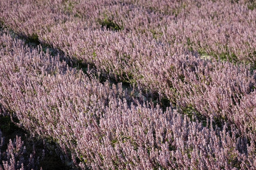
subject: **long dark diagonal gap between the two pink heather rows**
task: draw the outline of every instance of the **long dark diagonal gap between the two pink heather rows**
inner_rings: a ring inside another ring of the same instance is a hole
[[[163,109],[163,111],[165,111],[167,107],[171,106],[170,105],[171,101],[167,97],[160,97],[160,95],[158,93],[151,94],[150,92],[147,92],[144,89],[140,90],[140,89],[138,89],[137,86],[132,85],[128,81],[117,82],[114,78],[111,79],[111,77],[110,78],[104,77],[100,72],[97,72],[93,63],[83,64],[83,61],[75,60],[74,57],[72,57],[72,59],[71,59],[71,57],[69,55],[66,56],[61,49],[54,49],[49,44],[41,43],[39,41],[38,35],[36,33],[33,33],[31,36],[23,35],[23,34],[15,33],[13,30],[9,29],[6,26],[4,27],[2,25],[3,24],[0,24],[0,29],[2,29],[2,30],[5,29],[6,33],[9,33],[12,36],[12,38],[24,40],[25,44],[27,44],[31,48],[38,48],[38,46],[41,46],[43,49],[43,52],[46,52],[48,49],[50,52],[50,55],[52,55],[52,56],[59,55],[61,61],[65,61],[67,63],[67,65],[69,65],[73,68],[76,68],[77,70],[82,70],[86,75],[88,75],[88,77],[97,78],[99,80],[99,82],[101,82],[101,83],[108,81],[108,82],[110,82],[111,86],[113,86],[113,85],[118,86],[117,85],[118,83],[122,83],[123,91],[127,90],[129,95],[132,95],[133,97],[140,99],[140,100],[142,99],[144,102],[151,101],[151,102],[153,102],[154,106],[159,104],[161,106],[161,108]],[[110,27],[110,29],[111,29],[111,27]],[[116,31],[118,31],[118,30],[116,30]],[[202,122],[202,124],[204,126],[207,125],[207,123],[206,123],[207,117],[200,114],[192,106],[186,106],[186,107],[172,106],[172,109],[177,109],[182,115],[187,115],[191,119],[191,121],[198,120],[198,121]],[[216,117],[214,119],[214,121],[216,121],[215,124],[221,128],[221,122],[223,120],[218,119]]]

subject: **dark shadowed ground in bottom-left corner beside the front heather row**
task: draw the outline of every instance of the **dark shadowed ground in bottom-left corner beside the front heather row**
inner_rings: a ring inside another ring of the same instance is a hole
[[[25,129],[16,126],[13,122],[18,122],[18,119],[10,116],[0,115],[0,130],[2,132],[2,137],[4,137],[4,144],[0,148],[2,152],[2,159],[5,158],[5,151],[7,150],[9,140],[13,141],[16,139],[16,136],[21,137],[21,140],[24,142],[22,149],[24,151],[18,152],[15,151],[16,161],[22,161],[23,159],[24,166],[29,166],[33,169],[43,170],[69,170],[70,166],[66,166],[63,161],[61,161],[60,156],[57,154],[58,146],[47,139],[42,139],[39,136],[32,137],[28,131]],[[24,148],[25,147],[25,148]],[[29,164],[29,159],[33,155],[34,164]],[[20,156],[17,156],[20,155]],[[8,160],[8,159],[7,159]],[[4,160],[2,160],[4,161]]]

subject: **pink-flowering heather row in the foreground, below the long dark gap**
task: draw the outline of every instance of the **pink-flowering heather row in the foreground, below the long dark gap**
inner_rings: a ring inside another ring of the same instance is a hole
[[[10,35],[3,34],[0,43],[3,114],[11,110],[16,124],[56,141],[82,169],[256,167],[252,132],[243,134],[228,123],[214,126],[212,115],[203,126],[176,109],[163,112],[121,84],[90,79],[49,51],[31,49]]]

